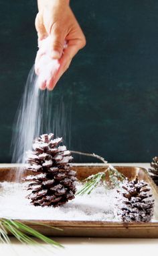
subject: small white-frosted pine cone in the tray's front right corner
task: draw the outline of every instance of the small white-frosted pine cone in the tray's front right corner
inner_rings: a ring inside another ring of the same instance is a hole
[[[117,215],[123,222],[149,222],[153,216],[154,199],[145,181],[126,179],[116,196]]]

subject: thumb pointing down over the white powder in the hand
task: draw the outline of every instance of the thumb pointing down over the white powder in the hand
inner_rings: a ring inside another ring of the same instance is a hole
[[[64,32],[59,26],[52,26],[50,31],[51,37],[51,57],[60,59],[64,50]]]

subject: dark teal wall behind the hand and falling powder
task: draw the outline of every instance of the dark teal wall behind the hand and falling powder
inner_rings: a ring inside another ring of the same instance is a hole
[[[87,45],[52,92],[52,108],[62,99],[71,117],[68,146],[110,162],[149,162],[158,155],[158,2],[71,5]],[[13,119],[37,51],[36,12],[35,0],[0,1],[0,162],[11,161]]]

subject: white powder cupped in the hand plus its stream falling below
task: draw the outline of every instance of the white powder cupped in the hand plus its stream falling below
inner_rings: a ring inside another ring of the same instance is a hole
[[[42,133],[50,133],[51,108],[50,95],[46,90],[41,91],[42,84],[49,84],[58,71],[58,60],[50,57],[50,37],[40,41],[39,51],[35,59],[38,76],[34,66],[29,72],[25,91],[15,117],[11,147],[13,150],[12,162],[24,163],[27,150],[31,150],[32,141]],[[20,181],[23,169],[16,172],[16,180]]]

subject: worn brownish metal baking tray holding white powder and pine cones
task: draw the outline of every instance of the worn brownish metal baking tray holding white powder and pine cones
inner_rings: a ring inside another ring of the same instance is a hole
[[[101,172],[105,166],[100,165],[74,165],[79,180],[85,179],[90,174]],[[86,236],[86,237],[113,237],[113,238],[158,238],[158,189],[147,170],[133,166],[116,166],[119,172],[129,179],[138,175],[139,179],[147,181],[151,185],[155,197],[155,221],[154,222],[105,222],[105,221],[64,221],[64,220],[18,220],[28,224],[32,228],[48,236]],[[0,181],[15,181],[16,168],[0,168]],[[30,172],[29,172],[30,173]],[[26,174],[26,173],[25,173]],[[24,174],[24,176],[25,176]],[[48,226],[41,226],[40,224]],[[62,228],[62,231],[51,228]]]

